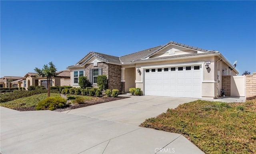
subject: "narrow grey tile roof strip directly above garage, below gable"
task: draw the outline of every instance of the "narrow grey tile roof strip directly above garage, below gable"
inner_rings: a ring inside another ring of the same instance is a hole
[[[150,60],[159,60],[159,59],[172,59],[172,58],[178,58],[178,57],[190,57],[190,56],[196,56],[196,55],[210,55],[210,54],[218,54],[215,52],[205,52],[205,53],[189,53],[184,55],[173,55],[173,56],[166,56],[166,57],[153,57],[148,59],[138,59],[133,61],[134,63],[139,61],[150,61]]]

